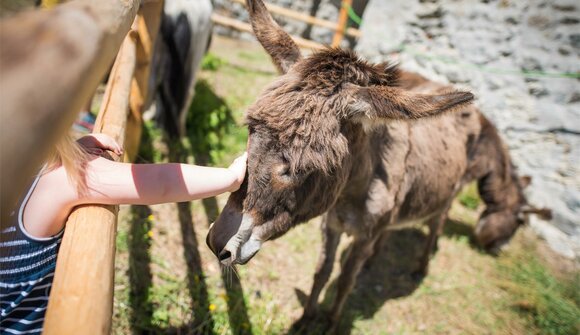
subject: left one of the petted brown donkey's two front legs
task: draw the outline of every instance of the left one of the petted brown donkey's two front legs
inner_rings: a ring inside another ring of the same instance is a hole
[[[313,317],[318,310],[318,296],[322,288],[328,281],[332,266],[334,264],[334,257],[336,256],[336,248],[340,241],[341,232],[337,230],[336,213],[331,210],[327,212],[322,220],[322,251],[318,258],[318,265],[316,273],[314,274],[314,283],[310,291],[310,297],[304,306],[304,313],[302,318],[307,319]]]

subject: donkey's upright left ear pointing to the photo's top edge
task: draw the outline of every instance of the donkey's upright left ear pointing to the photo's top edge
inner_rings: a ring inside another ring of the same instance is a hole
[[[274,65],[280,73],[286,73],[300,58],[300,49],[288,35],[272,19],[261,0],[246,0],[250,23],[256,38],[272,57]]]

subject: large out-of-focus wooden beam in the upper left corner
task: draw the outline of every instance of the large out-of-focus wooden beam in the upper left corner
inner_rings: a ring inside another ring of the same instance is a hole
[[[1,224],[113,62],[140,0],[77,0],[0,21]]]

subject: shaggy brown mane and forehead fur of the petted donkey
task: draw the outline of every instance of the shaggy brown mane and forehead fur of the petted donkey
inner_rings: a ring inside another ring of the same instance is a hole
[[[348,154],[337,114],[346,110],[338,94],[345,83],[397,85],[399,70],[390,63],[370,64],[355,52],[327,48],[301,60],[262,93],[250,107],[247,123],[267,129],[291,162],[291,170],[330,173]]]

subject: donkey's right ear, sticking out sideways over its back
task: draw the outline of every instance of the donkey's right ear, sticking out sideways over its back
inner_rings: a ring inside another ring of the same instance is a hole
[[[347,84],[347,113],[353,118],[411,120],[452,111],[473,101],[469,92],[420,94],[397,87]]]

